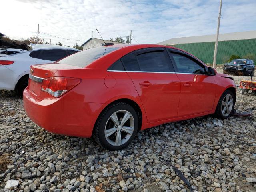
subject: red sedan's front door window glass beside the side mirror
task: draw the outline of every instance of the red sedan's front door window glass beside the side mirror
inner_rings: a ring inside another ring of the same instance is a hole
[[[179,73],[205,74],[202,64],[183,54],[171,53]]]

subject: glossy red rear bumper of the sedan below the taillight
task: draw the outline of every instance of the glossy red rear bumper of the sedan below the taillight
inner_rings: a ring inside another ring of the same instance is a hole
[[[24,109],[28,117],[49,132],[89,138],[103,104],[83,102],[70,91],[60,98],[37,101],[28,87],[23,92]]]

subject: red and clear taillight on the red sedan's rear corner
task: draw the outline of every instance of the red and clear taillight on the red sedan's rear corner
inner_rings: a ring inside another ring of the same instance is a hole
[[[42,81],[41,91],[58,98],[81,82],[80,79],[70,77],[50,77]]]

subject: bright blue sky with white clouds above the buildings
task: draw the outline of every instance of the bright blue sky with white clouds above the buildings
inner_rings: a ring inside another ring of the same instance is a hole
[[[125,38],[132,30],[132,43],[154,44],[216,34],[219,4],[219,0],[3,0],[0,32],[26,39],[37,35],[39,23],[44,42],[51,39],[72,46],[92,35],[100,38],[95,28],[106,40]],[[255,10],[256,0],[223,0],[220,34],[256,30]]]

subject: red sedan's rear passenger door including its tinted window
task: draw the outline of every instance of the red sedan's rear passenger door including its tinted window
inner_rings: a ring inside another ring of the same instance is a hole
[[[148,122],[175,118],[180,100],[180,80],[164,48],[140,49],[122,63],[140,96]]]

